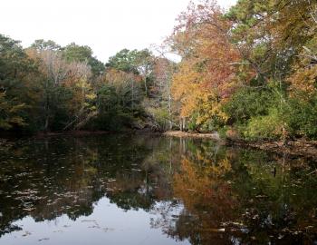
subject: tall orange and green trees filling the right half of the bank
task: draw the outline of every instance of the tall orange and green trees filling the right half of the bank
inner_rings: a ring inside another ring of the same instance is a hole
[[[290,113],[301,100],[314,106],[316,9],[312,1],[244,0],[227,12],[215,1],[189,4],[168,39],[181,56],[172,92],[187,130],[312,137],[301,127],[313,119]]]

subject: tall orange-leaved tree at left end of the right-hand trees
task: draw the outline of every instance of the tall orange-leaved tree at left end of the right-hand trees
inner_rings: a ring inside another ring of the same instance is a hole
[[[226,120],[219,104],[239,85],[234,64],[241,57],[227,35],[231,23],[222,14],[214,1],[189,5],[171,37],[172,47],[183,58],[173,77],[172,93],[181,103],[181,116],[198,112],[198,122],[215,115]]]

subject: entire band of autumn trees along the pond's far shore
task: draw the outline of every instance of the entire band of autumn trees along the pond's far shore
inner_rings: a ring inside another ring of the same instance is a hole
[[[0,36],[0,128],[218,131],[245,139],[317,136],[317,4],[190,3],[159,52]],[[164,51],[178,54],[168,60]]]

